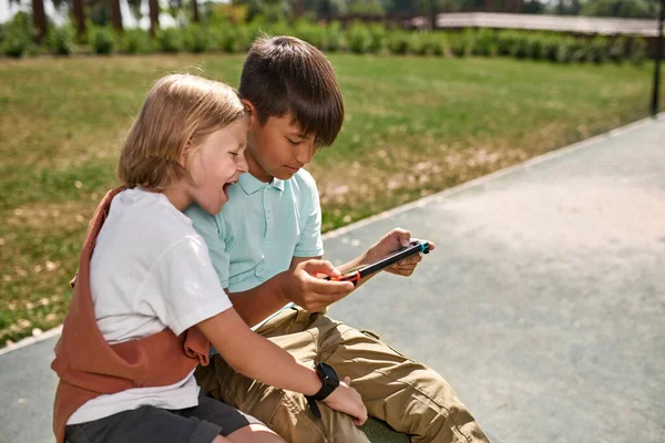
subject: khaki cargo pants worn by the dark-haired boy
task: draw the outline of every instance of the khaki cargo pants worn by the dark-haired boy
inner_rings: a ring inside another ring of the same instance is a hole
[[[280,312],[257,332],[305,364],[323,361],[340,379],[350,377],[369,415],[410,434],[413,443],[489,442],[441,375],[392,350],[371,332],[300,308]],[[369,442],[348,415],[319,403],[323,418],[317,420],[301,394],[250,380],[218,354],[195,374],[204,391],[263,421],[288,442]]]

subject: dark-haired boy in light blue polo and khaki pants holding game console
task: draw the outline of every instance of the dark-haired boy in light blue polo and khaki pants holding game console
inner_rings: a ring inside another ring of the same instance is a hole
[[[318,192],[303,167],[319,147],[332,144],[344,121],[341,93],[328,60],[295,38],[259,38],[243,68],[239,94],[250,115],[249,173],[229,189],[229,203],[217,216],[195,206],[186,212],[206,240],[235,309],[298,360],[324,362],[340,377],[350,377],[369,415],[411,434],[413,442],[488,442],[438,373],[375,334],[319,313],[354,286],[326,281],[317,274],[336,275],[371,262],[410,238],[408,231],[393,229],[337,269],[320,260]],[[409,276],[418,261],[416,256],[388,270]],[[319,404],[318,420],[308,399],[250,380],[219,356],[200,368],[196,378],[215,398],[264,421],[287,441],[368,442],[349,416]]]

